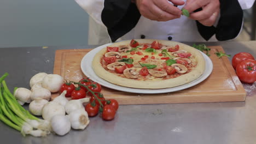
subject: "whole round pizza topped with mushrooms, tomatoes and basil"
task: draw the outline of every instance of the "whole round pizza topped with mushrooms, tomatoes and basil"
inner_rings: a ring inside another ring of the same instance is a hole
[[[197,79],[205,59],[194,47],[167,40],[113,43],[96,53],[92,69],[102,79],[131,88],[170,88]]]

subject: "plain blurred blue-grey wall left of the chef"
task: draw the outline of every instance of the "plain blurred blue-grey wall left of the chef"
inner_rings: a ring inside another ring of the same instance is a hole
[[[0,1],[0,47],[87,43],[88,14],[74,0]]]

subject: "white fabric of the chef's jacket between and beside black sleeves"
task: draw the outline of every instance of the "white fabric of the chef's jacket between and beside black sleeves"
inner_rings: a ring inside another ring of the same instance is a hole
[[[89,39],[90,45],[111,43],[107,27],[101,19],[101,13],[104,8],[104,0],[75,0],[89,15]],[[186,1],[186,0],[185,0]],[[252,7],[254,0],[238,0],[242,9]],[[178,6],[178,8],[182,8]],[[216,26],[218,20],[214,24]],[[242,26],[241,26],[242,29]],[[240,31],[241,31],[240,29]],[[196,22],[186,16],[166,22],[152,21],[141,16],[134,28],[118,40],[126,39],[163,39],[173,41],[206,41],[200,35],[196,28]],[[117,41],[118,41],[117,40]],[[211,37],[208,41],[217,41],[216,37]]]

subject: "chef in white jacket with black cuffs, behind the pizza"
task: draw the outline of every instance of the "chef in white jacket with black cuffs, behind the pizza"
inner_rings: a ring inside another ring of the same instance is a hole
[[[223,41],[237,37],[254,0],[75,0],[89,15],[89,44],[127,39]],[[189,17],[182,14],[187,9]]]

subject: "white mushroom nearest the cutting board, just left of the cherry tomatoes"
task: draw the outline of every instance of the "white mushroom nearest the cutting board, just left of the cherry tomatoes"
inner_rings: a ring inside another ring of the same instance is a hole
[[[62,76],[57,74],[46,75],[42,81],[42,86],[48,89],[50,92],[58,92],[63,84],[64,79]]]

